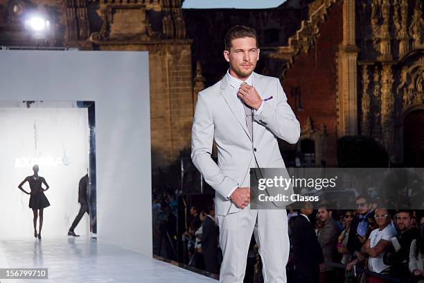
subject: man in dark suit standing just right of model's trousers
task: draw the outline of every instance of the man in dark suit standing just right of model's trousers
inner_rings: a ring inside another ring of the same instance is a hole
[[[311,203],[304,203],[292,226],[295,283],[318,283],[319,267],[324,267],[324,255],[308,216]]]

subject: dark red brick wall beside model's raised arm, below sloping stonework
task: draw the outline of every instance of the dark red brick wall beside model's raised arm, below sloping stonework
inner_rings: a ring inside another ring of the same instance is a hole
[[[323,160],[328,165],[335,165],[337,153],[336,54],[343,39],[342,21],[342,4],[330,8],[328,18],[319,27],[315,46],[308,53],[297,55],[283,80],[283,89],[301,126],[308,117],[318,130],[321,130],[321,123],[326,125],[328,135]],[[294,109],[294,99],[290,97],[290,89],[297,86],[301,89],[303,111]]]

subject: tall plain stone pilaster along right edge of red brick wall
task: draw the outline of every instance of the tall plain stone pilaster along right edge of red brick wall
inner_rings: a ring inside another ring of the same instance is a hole
[[[357,53],[355,0],[343,2],[343,42],[339,52],[339,125],[337,135],[357,135]]]

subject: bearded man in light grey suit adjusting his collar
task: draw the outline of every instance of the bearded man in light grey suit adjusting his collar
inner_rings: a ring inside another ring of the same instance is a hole
[[[252,28],[234,26],[225,36],[227,74],[198,94],[191,158],[215,189],[215,214],[223,260],[220,282],[245,277],[251,234],[263,260],[265,282],[286,282],[288,221],[285,209],[250,209],[250,168],[284,168],[277,137],[295,144],[297,121],[278,78],[254,73],[259,59]],[[211,158],[218,148],[218,164]]]

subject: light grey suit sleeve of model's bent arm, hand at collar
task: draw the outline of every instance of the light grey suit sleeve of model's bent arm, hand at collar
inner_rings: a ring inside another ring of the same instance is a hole
[[[284,139],[289,144],[296,144],[300,137],[300,124],[296,116],[287,103],[287,97],[283,91],[280,80],[275,79],[276,83],[276,108],[267,101],[263,102],[263,109],[257,115],[257,119],[265,124],[274,135]]]

